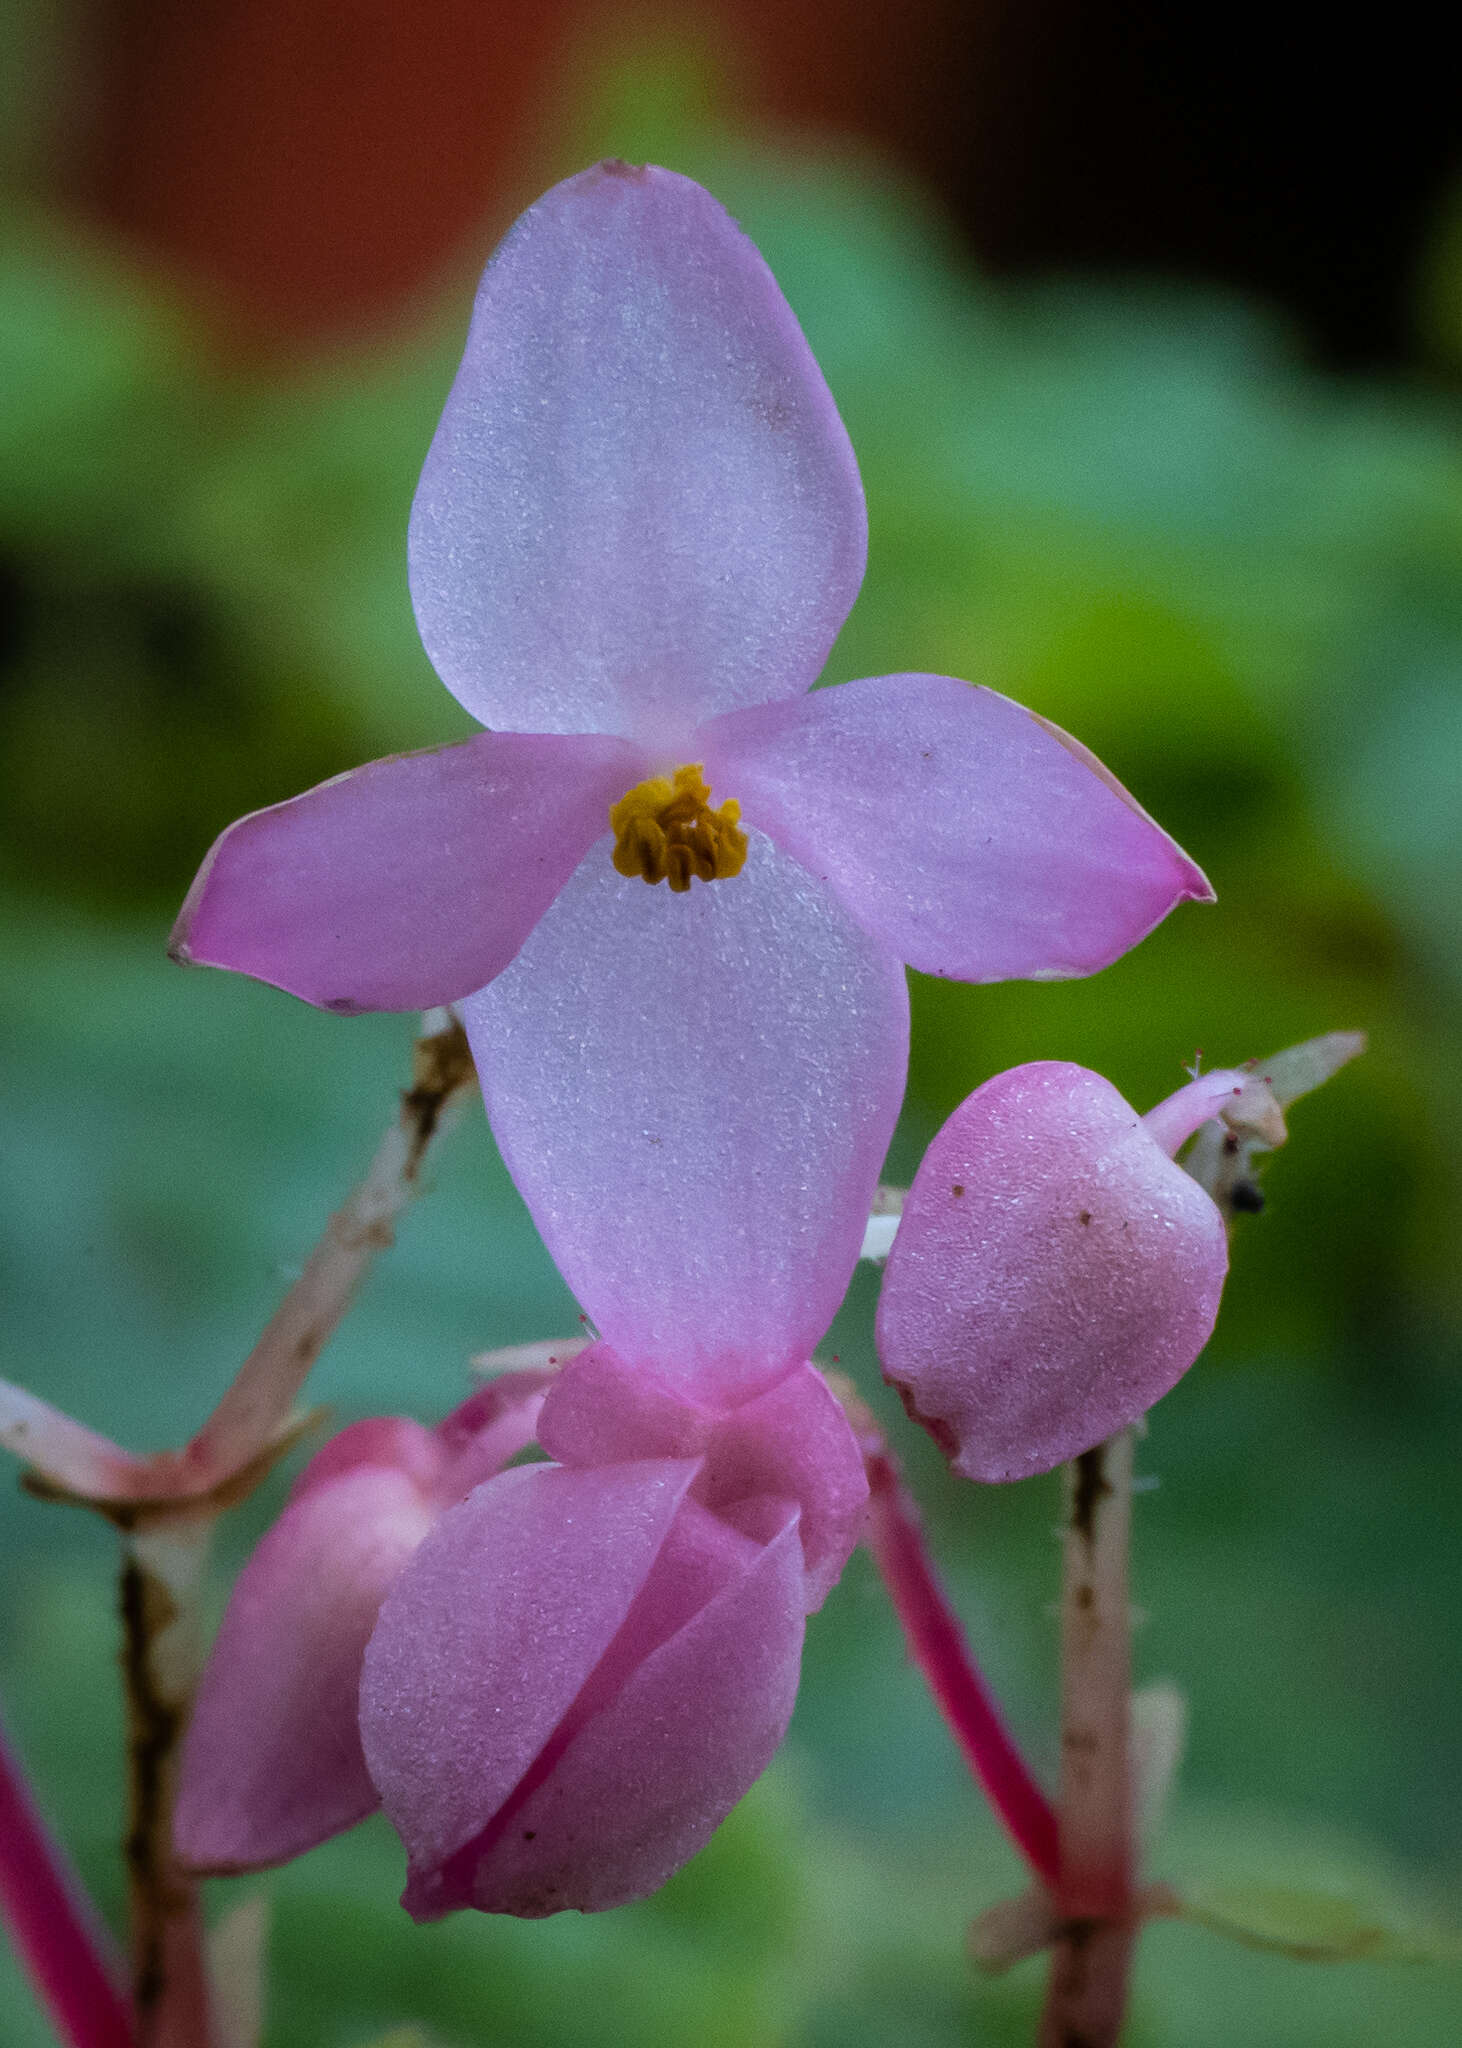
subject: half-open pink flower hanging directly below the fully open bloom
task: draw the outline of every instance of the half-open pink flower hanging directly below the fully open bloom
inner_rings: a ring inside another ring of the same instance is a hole
[[[360,1735],[418,1919],[663,1884],[770,1763],[862,1526],[862,1456],[809,1364],[727,1405],[598,1346],[539,1434],[557,1462],[442,1516],[367,1649]]]

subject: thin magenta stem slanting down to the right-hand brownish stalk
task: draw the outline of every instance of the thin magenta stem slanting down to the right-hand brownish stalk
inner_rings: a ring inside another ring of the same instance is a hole
[[[870,1495],[866,1540],[903,1624],[909,1655],[1005,1833],[1040,1882],[1055,1886],[1061,1876],[1055,1808],[1030,1774],[971,1657],[893,1458],[885,1450],[864,1450],[864,1464]]]

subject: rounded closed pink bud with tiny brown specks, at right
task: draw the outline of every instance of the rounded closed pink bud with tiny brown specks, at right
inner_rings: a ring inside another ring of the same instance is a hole
[[[995,1075],[930,1145],[878,1352],[966,1479],[1024,1479],[1136,1421],[1218,1313],[1218,1210],[1083,1067]]]

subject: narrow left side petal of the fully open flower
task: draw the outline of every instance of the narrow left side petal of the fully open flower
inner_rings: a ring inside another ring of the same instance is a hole
[[[242,817],[172,952],[321,1010],[430,1010],[491,981],[643,774],[620,739],[481,733]]]

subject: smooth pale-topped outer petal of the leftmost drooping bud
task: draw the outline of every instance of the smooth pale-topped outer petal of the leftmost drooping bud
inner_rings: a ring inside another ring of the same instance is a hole
[[[377,1806],[360,1659],[434,1507],[360,1464],[299,1493],[244,1567],[182,1751],[174,1837],[197,1870],[285,1862]]]

